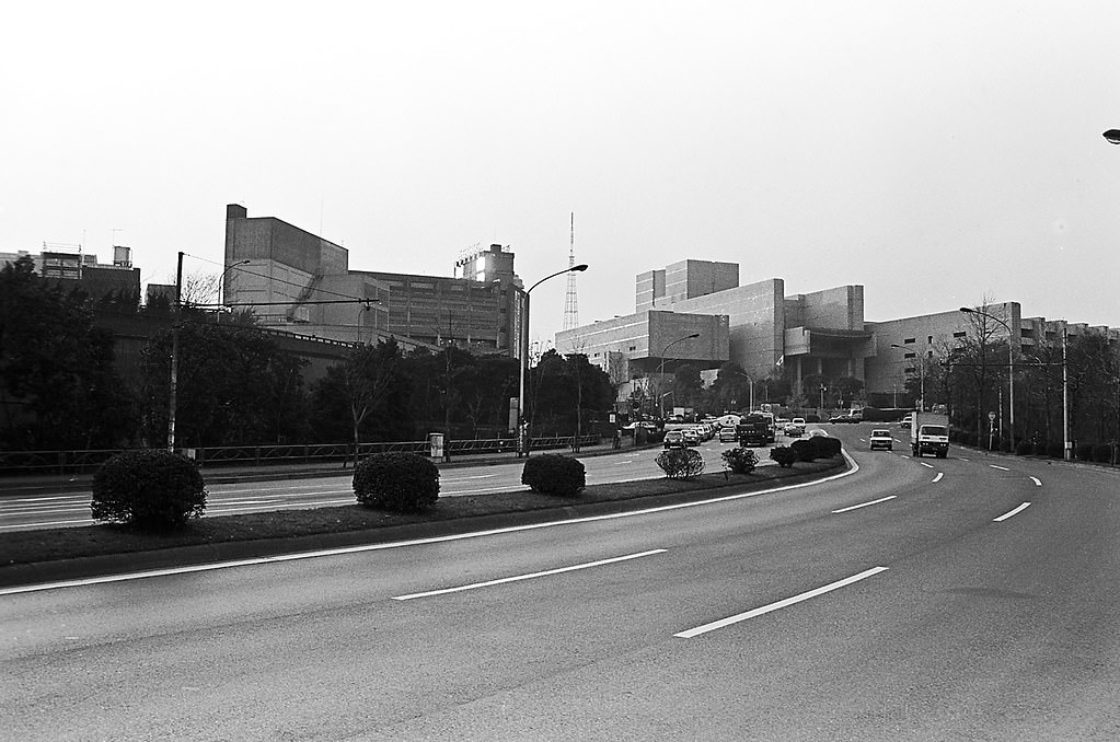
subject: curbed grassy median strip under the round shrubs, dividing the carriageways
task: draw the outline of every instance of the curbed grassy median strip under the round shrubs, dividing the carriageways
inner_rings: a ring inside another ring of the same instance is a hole
[[[168,534],[93,525],[6,534],[0,542],[0,586],[16,586],[124,572],[162,570],[281,554],[414,541],[759,491],[829,477],[846,459],[764,467],[750,475],[724,472],[689,479],[647,479],[594,485],[575,497],[528,489],[440,498],[418,514],[354,505],[204,517]]]

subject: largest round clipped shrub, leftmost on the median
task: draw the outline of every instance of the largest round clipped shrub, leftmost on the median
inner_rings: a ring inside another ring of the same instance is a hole
[[[178,453],[123,451],[93,476],[90,510],[94,520],[174,530],[205,509],[206,483],[198,464]]]

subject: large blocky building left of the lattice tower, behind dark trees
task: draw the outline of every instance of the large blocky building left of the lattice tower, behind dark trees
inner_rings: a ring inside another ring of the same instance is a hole
[[[460,256],[463,278],[349,270],[349,252],[276,217],[226,207],[225,302],[265,327],[348,342],[395,337],[516,355],[524,292],[501,245]]]

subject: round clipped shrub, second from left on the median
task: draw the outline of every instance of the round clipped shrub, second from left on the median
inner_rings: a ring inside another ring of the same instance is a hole
[[[354,468],[354,495],[379,510],[423,510],[439,499],[439,467],[416,453],[374,453]]]

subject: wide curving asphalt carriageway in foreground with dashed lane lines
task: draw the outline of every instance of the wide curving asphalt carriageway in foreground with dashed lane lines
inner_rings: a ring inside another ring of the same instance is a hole
[[[0,593],[18,740],[1116,740],[1120,477],[865,450],[657,513]]]

